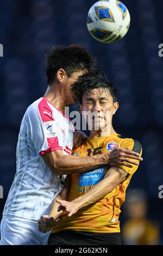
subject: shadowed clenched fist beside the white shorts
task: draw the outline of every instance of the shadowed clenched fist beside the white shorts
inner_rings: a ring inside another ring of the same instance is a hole
[[[42,215],[38,221],[38,229],[42,233],[47,233],[55,226],[55,220],[52,216]]]

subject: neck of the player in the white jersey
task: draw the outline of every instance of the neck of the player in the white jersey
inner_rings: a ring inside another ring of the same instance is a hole
[[[48,86],[44,96],[62,113],[65,113],[65,106],[71,103],[65,99],[65,95],[62,88],[58,86],[58,84],[56,83],[52,84],[52,86]]]

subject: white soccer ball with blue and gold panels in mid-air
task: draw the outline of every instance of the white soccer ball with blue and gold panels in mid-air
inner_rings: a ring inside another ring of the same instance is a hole
[[[129,11],[120,1],[98,1],[87,14],[87,29],[91,36],[105,44],[122,39],[129,26]]]

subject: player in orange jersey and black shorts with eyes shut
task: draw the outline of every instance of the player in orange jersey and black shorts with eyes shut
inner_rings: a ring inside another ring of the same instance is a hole
[[[73,155],[92,156],[114,152],[115,148],[142,154],[139,141],[123,138],[112,126],[112,116],[119,105],[117,90],[106,77],[85,74],[73,84],[72,90],[91,127],[90,137],[73,151]],[[41,216],[39,220],[42,232],[55,225],[49,245],[121,245],[120,208],[139,165],[139,160],[134,161],[130,167],[102,166],[68,175],[49,216]],[[56,222],[59,217],[60,221]]]

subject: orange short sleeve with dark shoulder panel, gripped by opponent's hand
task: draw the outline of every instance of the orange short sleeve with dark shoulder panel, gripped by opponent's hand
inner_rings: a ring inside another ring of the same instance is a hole
[[[124,142],[121,144],[121,148],[129,148],[129,150],[139,153],[142,155],[142,145],[137,139],[124,139]],[[134,162],[138,162],[138,160],[133,160]],[[133,168],[129,168],[127,166],[120,166],[121,169],[125,170],[128,174],[133,175],[139,166],[135,164],[130,164]]]

